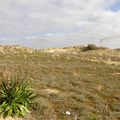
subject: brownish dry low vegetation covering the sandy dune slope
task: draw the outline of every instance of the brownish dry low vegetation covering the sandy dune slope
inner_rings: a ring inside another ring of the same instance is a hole
[[[10,73],[25,76],[38,94],[22,119],[120,119],[120,51],[84,48],[0,47],[1,81]]]

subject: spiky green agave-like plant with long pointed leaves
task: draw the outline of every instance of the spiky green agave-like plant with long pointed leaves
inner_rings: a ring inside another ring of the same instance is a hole
[[[36,94],[26,82],[2,81],[0,86],[0,114],[3,116],[24,117],[29,113],[29,105]]]

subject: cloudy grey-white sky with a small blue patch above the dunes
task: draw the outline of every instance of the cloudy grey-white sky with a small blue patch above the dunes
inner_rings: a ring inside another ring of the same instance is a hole
[[[120,48],[120,0],[0,0],[0,44],[99,46],[103,38]]]

